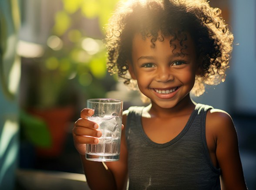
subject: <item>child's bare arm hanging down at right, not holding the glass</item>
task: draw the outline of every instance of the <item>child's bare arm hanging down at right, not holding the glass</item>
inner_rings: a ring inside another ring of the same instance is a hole
[[[221,168],[223,190],[246,190],[239,155],[238,139],[232,118],[224,111],[213,109],[207,115],[216,139],[216,159]]]

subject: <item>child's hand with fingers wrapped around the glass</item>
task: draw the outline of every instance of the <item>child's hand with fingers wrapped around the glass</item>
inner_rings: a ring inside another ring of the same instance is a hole
[[[86,144],[98,144],[98,138],[102,133],[98,129],[98,124],[87,119],[92,116],[94,110],[84,108],[81,111],[80,117],[75,123],[72,131],[74,146],[81,155],[85,155]]]

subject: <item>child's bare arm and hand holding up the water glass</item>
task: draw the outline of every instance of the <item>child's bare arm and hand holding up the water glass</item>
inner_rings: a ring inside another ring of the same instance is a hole
[[[87,108],[82,110],[81,118],[75,122],[73,128],[74,146],[80,154],[88,185],[92,190],[122,189],[126,181],[124,178],[127,175],[124,130],[122,131],[119,161],[108,162],[109,164],[106,162],[108,167],[102,162],[88,161],[85,159],[85,144],[97,144],[98,137],[101,136],[101,132],[97,130],[98,124],[95,125],[93,121],[87,119],[90,115],[93,115],[93,110]]]

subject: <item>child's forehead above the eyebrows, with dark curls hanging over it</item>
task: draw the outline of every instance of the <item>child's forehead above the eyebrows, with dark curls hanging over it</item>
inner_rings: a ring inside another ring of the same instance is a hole
[[[142,36],[136,33],[132,40],[132,54],[139,52],[157,52],[159,50],[169,51],[172,54],[191,55],[195,54],[195,43],[187,32],[174,35]]]

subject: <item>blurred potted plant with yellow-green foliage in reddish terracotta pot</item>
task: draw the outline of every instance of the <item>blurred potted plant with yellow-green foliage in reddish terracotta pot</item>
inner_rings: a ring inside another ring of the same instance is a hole
[[[68,125],[76,114],[75,110],[81,108],[79,97],[83,97],[84,102],[86,98],[104,97],[110,84],[115,82],[106,75],[106,51],[101,42],[104,37],[101,28],[115,1],[63,0],[62,3],[43,45],[43,56],[23,59],[32,62],[25,109],[47,124],[53,146],[42,148],[37,144],[37,150],[41,156],[48,154],[50,157],[61,154]],[[88,32],[84,27],[88,20],[98,25],[98,31]]]

